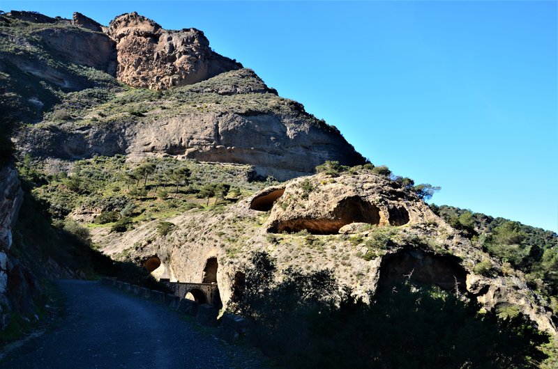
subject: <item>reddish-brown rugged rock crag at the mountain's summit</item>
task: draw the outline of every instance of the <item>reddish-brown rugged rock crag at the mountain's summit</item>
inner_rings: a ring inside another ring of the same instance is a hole
[[[202,31],[166,31],[137,13],[116,17],[108,34],[116,41],[116,77],[130,86],[161,90],[242,68],[211,51]]]

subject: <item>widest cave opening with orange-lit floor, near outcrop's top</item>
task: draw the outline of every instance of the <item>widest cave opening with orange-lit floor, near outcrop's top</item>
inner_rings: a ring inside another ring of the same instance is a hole
[[[269,228],[271,233],[296,233],[308,230],[312,235],[334,235],[339,233],[342,226],[350,223],[379,224],[379,207],[364,201],[359,196],[351,196],[340,201],[331,217],[328,218],[299,218],[275,221]]]

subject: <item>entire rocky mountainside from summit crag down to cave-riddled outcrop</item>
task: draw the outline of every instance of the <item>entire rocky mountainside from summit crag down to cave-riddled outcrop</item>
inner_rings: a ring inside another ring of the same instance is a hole
[[[96,250],[216,283],[223,311],[264,251],[279,281],[328,270],[368,304],[405,280],[557,336],[558,235],[429,207],[202,31],[0,14],[0,91],[1,327],[44,306],[41,278],[97,273]]]

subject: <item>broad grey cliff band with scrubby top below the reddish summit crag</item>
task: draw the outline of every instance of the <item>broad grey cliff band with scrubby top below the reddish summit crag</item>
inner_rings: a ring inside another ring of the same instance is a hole
[[[278,180],[311,174],[326,160],[365,162],[335,127],[278,97],[252,70],[226,72],[140,103],[115,99],[114,107],[77,114],[98,123],[42,123],[22,132],[19,145],[32,155],[62,159],[168,154],[252,164],[258,175]],[[121,113],[136,109],[144,113]]]

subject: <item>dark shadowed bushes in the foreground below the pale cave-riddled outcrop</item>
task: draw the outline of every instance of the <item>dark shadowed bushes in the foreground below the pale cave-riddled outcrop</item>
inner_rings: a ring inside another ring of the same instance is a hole
[[[439,288],[399,283],[371,305],[331,272],[287,269],[255,253],[233,308],[253,324],[253,343],[288,368],[525,368],[548,342],[525,316],[506,320]]]

